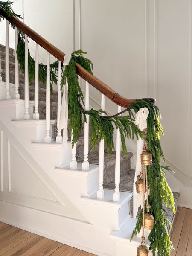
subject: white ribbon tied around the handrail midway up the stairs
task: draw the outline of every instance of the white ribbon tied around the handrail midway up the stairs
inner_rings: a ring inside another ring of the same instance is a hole
[[[71,55],[65,55],[63,65],[69,64]],[[63,147],[68,147],[68,84],[64,85],[61,113],[59,119],[59,130],[63,129]]]

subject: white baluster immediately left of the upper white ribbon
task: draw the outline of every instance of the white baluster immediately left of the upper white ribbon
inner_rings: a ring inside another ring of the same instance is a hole
[[[67,86],[67,84],[65,85]],[[61,130],[59,130],[59,120],[61,113],[61,61],[58,62],[58,92],[57,92],[57,137],[56,143],[62,143],[63,137],[61,136]]]

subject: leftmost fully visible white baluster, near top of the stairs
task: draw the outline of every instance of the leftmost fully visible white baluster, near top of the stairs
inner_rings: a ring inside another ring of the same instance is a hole
[[[6,95],[5,99],[11,99],[9,93],[9,23],[6,20]]]

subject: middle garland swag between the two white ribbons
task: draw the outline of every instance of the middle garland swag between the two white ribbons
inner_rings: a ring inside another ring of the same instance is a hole
[[[93,64],[87,58],[82,55],[86,52],[82,50],[75,51],[72,53],[72,58],[69,65],[65,67],[62,79],[61,79],[61,89],[68,83],[68,109],[70,117],[70,131],[73,130],[73,141],[74,145],[79,134],[82,131],[82,117],[86,122],[86,115],[90,116],[90,145],[96,147],[96,143],[100,142],[102,139],[105,141],[105,147],[107,149],[108,155],[114,149],[113,143],[113,133],[115,128],[119,129],[121,134],[122,150],[125,156],[127,156],[127,149],[125,145],[125,138],[134,139],[134,136],[143,137],[143,132],[137,127],[133,122],[133,114],[128,111],[127,116],[115,116],[113,118],[105,118],[101,116],[105,113],[102,110],[91,109],[89,111],[84,111],[79,108],[78,95],[81,99],[82,104],[84,104],[84,96],[79,86],[78,76],[76,73],[75,61],[81,64],[88,72],[92,73]],[[106,114],[106,113],[105,113]]]

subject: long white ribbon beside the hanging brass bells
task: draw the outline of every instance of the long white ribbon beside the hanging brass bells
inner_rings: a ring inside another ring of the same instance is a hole
[[[139,129],[143,131],[147,128],[147,117],[149,111],[148,108],[140,108],[135,117],[135,124],[138,125]],[[137,141],[137,161],[135,169],[134,183],[137,181],[137,176],[140,174],[142,165],[141,165],[141,153],[143,151],[143,139],[139,138]],[[136,187],[134,185],[133,189],[133,218],[137,216],[138,208],[143,207],[143,194],[137,194]]]

